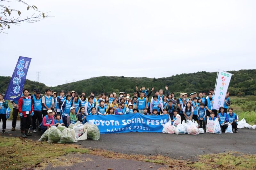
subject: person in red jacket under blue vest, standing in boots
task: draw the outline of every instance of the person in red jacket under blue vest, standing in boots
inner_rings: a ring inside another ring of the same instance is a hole
[[[28,89],[24,89],[23,96],[19,99],[20,131],[22,138],[32,135],[28,133],[28,129],[31,125],[31,117],[34,115],[34,109],[32,100],[28,94]]]

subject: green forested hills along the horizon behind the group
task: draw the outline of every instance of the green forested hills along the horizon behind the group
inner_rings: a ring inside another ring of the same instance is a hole
[[[228,90],[231,95],[237,95],[239,92],[245,95],[256,95],[256,69],[228,71],[232,74],[232,79]],[[190,74],[177,74],[171,77],[164,78],[147,78],[147,77],[116,77],[116,76],[101,76],[94,77],[82,81],[76,81],[68,84],[62,84],[56,87],[50,87],[56,92],[64,90],[65,92],[75,90],[78,94],[85,92],[88,95],[91,91],[95,95],[100,93],[120,92],[132,93],[135,91],[135,86],[139,88],[155,87],[155,90],[165,89],[169,86],[170,91],[174,92],[208,92],[210,88],[215,87],[217,72],[197,72]],[[0,76],[0,92],[5,92],[10,81],[10,77]],[[32,91],[34,88],[40,89],[42,92],[47,88],[45,84],[36,81],[26,80],[25,88]]]

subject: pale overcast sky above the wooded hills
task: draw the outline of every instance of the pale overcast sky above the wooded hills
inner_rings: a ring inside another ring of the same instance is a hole
[[[47,86],[256,68],[254,0],[27,2],[54,17],[0,34],[2,76],[12,76],[19,56],[32,58],[27,79],[39,71]],[[27,7],[18,8],[24,18]]]

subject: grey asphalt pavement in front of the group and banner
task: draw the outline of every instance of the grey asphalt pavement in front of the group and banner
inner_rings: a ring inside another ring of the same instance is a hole
[[[20,130],[10,131],[7,128],[7,132],[1,135],[17,137]],[[40,137],[41,133],[36,132],[28,138],[38,140]],[[152,132],[113,133],[101,134],[98,141],[87,139],[75,144],[127,154],[160,154],[176,159],[195,159],[197,155],[229,151],[256,154],[256,130],[239,129],[238,133],[204,133],[196,136]]]

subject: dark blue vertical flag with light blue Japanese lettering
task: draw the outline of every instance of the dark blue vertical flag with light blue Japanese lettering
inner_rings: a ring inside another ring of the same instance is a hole
[[[6,94],[4,95],[4,99],[18,100],[20,98],[28,73],[30,61],[31,58],[19,57],[19,60],[12,74],[12,78],[9,82]]]

